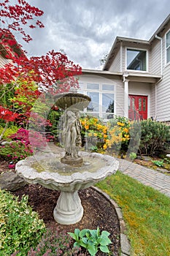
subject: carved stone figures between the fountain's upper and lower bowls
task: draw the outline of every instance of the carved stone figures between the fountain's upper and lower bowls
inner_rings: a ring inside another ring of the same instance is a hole
[[[78,151],[82,145],[81,138],[81,123],[80,123],[79,111],[66,110],[63,113],[63,132],[62,141],[66,154],[61,162],[71,164],[70,162],[82,162],[82,159],[78,156]]]

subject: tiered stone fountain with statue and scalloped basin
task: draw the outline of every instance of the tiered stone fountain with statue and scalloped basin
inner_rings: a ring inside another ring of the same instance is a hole
[[[64,110],[61,117],[61,143],[64,150],[43,151],[27,157],[16,165],[19,176],[30,184],[41,184],[60,190],[53,216],[56,222],[72,225],[83,216],[79,189],[85,189],[115,173],[118,161],[105,154],[80,151],[80,110],[88,106],[90,98],[84,94],[63,93],[55,97],[55,104]]]

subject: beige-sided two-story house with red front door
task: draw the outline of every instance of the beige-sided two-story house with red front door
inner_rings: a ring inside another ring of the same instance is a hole
[[[116,37],[103,70],[83,69],[87,112],[170,121],[170,15],[147,40]]]

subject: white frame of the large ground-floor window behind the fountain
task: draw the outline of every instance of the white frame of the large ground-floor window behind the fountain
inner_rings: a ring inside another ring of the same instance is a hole
[[[99,90],[87,89],[87,84],[88,83],[98,84]],[[80,80],[80,84],[83,84],[84,89],[78,90],[77,91],[78,93],[82,93],[82,94],[85,94],[85,95],[87,95],[88,92],[98,92],[99,93],[99,110],[98,110],[98,112],[97,111],[96,112],[95,111],[92,111],[92,112],[89,111],[88,112],[87,108],[85,108],[84,113],[89,114],[89,115],[93,115],[93,114],[98,113],[99,118],[104,119],[104,121],[109,121],[109,119],[103,118],[103,115],[106,112],[102,111],[102,107],[103,107],[102,106],[102,94],[103,93],[108,93],[108,94],[114,94],[114,113],[110,113],[110,114],[112,114],[112,118],[114,118],[114,116],[116,115],[116,99],[115,99],[116,98],[116,86],[115,86],[115,84],[114,83],[105,83],[105,82],[104,83],[98,83],[98,82],[95,82],[95,81],[90,82],[90,81],[81,81],[81,80]],[[102,90],[103,85],[114,86],[114,90],[113,91],[112,90]],[[109,115],[109,113],[108,113],[108,115]]]

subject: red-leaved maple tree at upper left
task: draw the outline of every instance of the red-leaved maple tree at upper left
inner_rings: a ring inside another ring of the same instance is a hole
[[[40,94],[39,86],[48,89],[53,94],[69,91],[70,87],[78,86],[74,75],[81,74],[81,67],[69,61],[65,54],[55,53],[54,50],[51,50],[45,56],[33,56],[28,59],[22,45],[18,44],[15,39],[14,34],[18,33],[22,35],[24,41],[29,42],[31,37],[26,34],[24,27],[43,28],[44,25],[38,20],[43,13],[42,10],[31,6],[25,0],[18,0],[14,5],[10,4],[9,0],[0,3],[0,58],[3,57],[8,60],[3,67],[0,67],[0,90],[2,86],[4,89],[6,84],[11,84],[10,90],[15,89],[17,96],[23,95],[36,100]],[[18,83],[21,82],[23,82],[22,86],[18,86]],[[38,86],[36,90],[31,91],[33,82]],[[4,94],[5,91],[1,97],[4,97]],[[18,105],[26,105],[26,101],[22,102],[21,98],[15,97],[12,103],[17,102]],[[25,115],[29,116],[31,106],[27,105],[27,107],[25,108]],[[0,118],[5,121],[14,120],[18,115],[15,116],[13,111],[13,108],[9,109],[9,105],[0,105]]]

